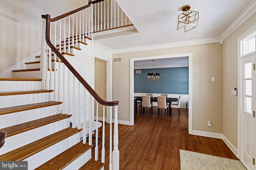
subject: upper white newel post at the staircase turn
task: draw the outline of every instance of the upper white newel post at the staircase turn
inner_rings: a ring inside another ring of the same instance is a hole
[[[46,19],[43,20],[43,30],[42,30],[42,53],[40,55],[40,75],[42,78],[42,89],[46,89]]]

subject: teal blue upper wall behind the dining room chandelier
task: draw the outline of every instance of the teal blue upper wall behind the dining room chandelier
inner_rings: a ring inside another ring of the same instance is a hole
[[[141,74],[135,74],[141,70]],[[188,67],[154,68],[160,73],[158,82],[148,81],[150,69],[134,70],[134,93],[188,94]]]

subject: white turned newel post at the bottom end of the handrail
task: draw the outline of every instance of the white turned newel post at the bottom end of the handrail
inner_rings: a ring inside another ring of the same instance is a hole
[[[118,117],[117,117],[117,108],[114,106],[114,149],[112,152],[112,170],[119,170],[119,150],[118,150]]]

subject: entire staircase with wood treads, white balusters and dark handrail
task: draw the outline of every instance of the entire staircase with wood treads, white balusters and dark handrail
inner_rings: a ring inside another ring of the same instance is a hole
[[[119,170],[119,102],[102,100],[89,85],[92,83],[90,75],[89,83],[85,81],[88,75],[86,64],[91,64],[93,59],[92,30],[102,31],[109,26],[110,29],[116,27],[115,23],[112,26],[112,20],[106,23],[106,26],[99,27],[103,20],[98,19],[98,28],[96,28],[96,19],[93,18],[97,17],[93,10],[99,9],[99,5],[102,7],[103,4],[106,6],[112,3],[110,0],[104,3],[103,1],[89,0],[88,5],[53,19],[48,14],[42,15],[41,55],[33,56],[33,61],[24,63],[26,68],[21,66],[22,69],[12,70],[13,78],[0,78],[1,161],[27,161],[29,170],[103,170],[104,165],[109,161],[109,169]],[[84,18],[90,20],[86,19],[84,22],[82,21]],[[115,18],[116,16],[113,21]],[[117,26],[123,26],[123,20],[120,20],[119,25],[119,17],[117,18]],[[51,32],[52,41],[50,40],[51,22],[52,25],[55,24],[55,29]],[[59,30],[56,30],[56,27],[59,27]],[[80,68],[76,68],[79,64]],[[86,74],[83,75],[84,72]],[[80,90],[80,86],[83,90]],[[96,121],[92,109],[94,100],[96,100]],[[104,108],[109,107],[107,113],[110,115],[110,140],[106,140],[108,143],[105,141],[105,109],[103,109],[102,134],[98,134],[100,124],[98,104],[103,105]],[[113,129],[112,110],[114,111]],[[113,131],[114,135],[112,135]],[[95,133],[95,145],[92,145],[93,133]],[[98,136],[101,135],[102,146],[99,147]],[[109,145],[110,150],[109,160],[106,162],[105,143]],[[100,158],[99,148],[102,148]],[[92,149],[95,151],[92,152]]]

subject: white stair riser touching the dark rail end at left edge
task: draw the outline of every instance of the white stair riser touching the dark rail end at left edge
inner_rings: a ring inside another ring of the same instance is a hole
[[[52,133],[61,131],[67,127],[69,127],[69,119],[63,119],[30,131],[6,137],[4,146],[0,149],[0,155],[27,145],[28,143],[37,141],[38,139],[51,135]]]

